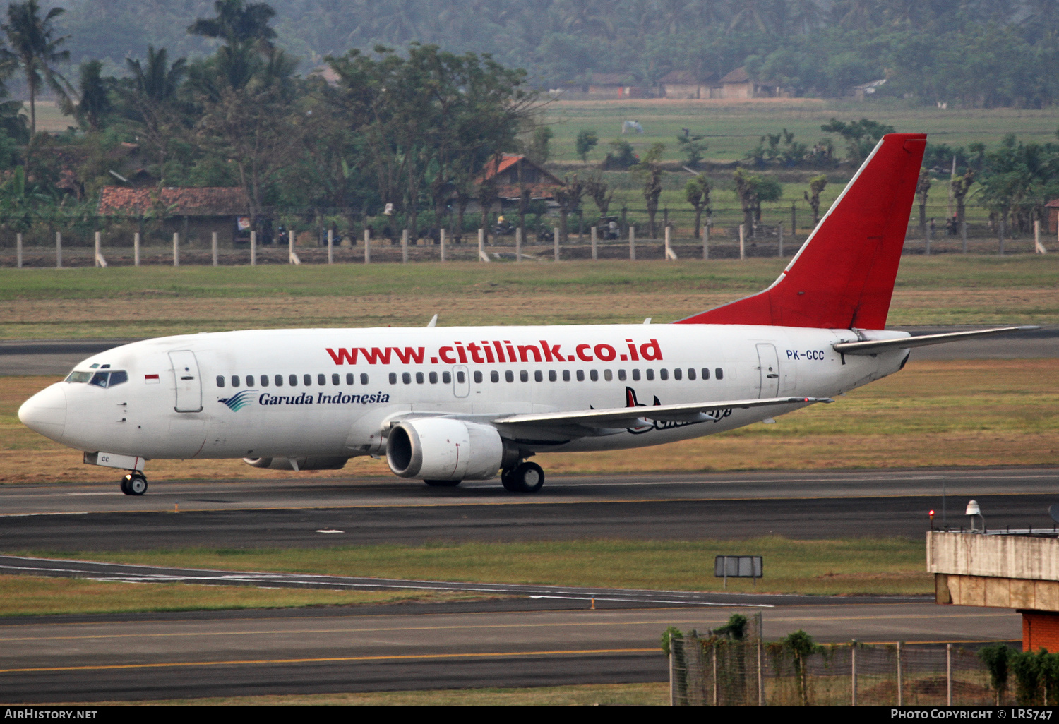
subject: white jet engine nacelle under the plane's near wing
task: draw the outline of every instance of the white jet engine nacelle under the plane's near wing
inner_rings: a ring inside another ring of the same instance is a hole
[[[484,481],[518,459],[518,446],[496,428],[443,417],[402,420],[387,439],[387,463],[400,477]]]

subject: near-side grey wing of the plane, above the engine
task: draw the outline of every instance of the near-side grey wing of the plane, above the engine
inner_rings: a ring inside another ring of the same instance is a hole
[[[718,402],[690,402],[686,404],[638,405],[608,410],[578,410],[572,412],[533,413],[507,415],[492,420],[498,426],[531,428],[581,428],[615,430],[639,428],[651,422],[705,422],[725,417],[732,410],[771,408],[785,404],[833,402],[826,397],[767,397],[753,400],[721,400]]]

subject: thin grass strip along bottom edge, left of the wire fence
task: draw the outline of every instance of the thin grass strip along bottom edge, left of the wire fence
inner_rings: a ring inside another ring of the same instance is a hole
[[[96,702],[93,702],[95,705]],[[167,699],[154,702],[98,702],[109,705],[185,704],[191,706],[666,706],[669,685],[591,684],[526,689],[437,689],[370,693]]]

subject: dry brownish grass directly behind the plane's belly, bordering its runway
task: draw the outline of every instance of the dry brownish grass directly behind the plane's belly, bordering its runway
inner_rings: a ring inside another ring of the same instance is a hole
[[[113,481],[19,423],[18,405],[55,378],[0,378],[0,484]],[[539,456],[550,473],[797,470],[1059,464],[1059,360],[912,361],[897,375],[731,433],[656,448]],[[151,479],[289,478],[239,460],[152,460]],[[389,475],[357,457],[343,470],[300,475]]]

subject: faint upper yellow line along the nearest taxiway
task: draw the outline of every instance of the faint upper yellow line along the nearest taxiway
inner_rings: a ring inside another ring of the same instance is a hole
[[[519,612],[524,615],[526,612]],[[620,611],[549,611],[530,612],[543,614],[594,614],[611,615],[621,613]],[[482,613],[475,615],[504,615],[497,613]],[[516,615],[516,614],[509,614]],[[1015,618],[1019,614],[1009,612],[997,613],[951,613],[951,614],[911,614],[911,615],[876,615],[876,616],[791,616],[791,617],[770,617],[770,623],[797,623],[803,621],[864,621],[864,620],[912,620],[912,619],[944,619],[944,618]],[[214,621],[220,619],[212,619]],[[467,623],[455,626],[390,626],[390,627],[353,627],[353,628],[329,628],[329,629],[263,629],[252,631],[186,631],[170,633],[126,633],[126,634],[89,634],[83,636],[13,636],[2,637],[3,641],[61,641],[61,640],[88,640],[88,639],[110,639],[110,638],[180,638],[191,636],[253,636],[253,635],[305,635],[305,634],[330,634],[330,633],[392,633],[399,631],[462,631],[464,629],[542,629],[562,627],[606,627],[606,626],[668,626],[670,623],[701,623],[706,619],[701,617],[667,617],[658,620],[606,620],[606,621],[542,621],[540,623]],[[718,619],[721,620],[721,619]],[[190,621],[197,623],[199,621]],[[32,626],[32,625],[31,625]],[[67,626],[98,626],[98,623],[73,623]]]

